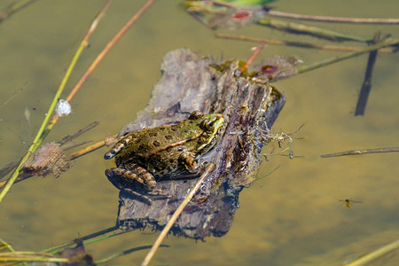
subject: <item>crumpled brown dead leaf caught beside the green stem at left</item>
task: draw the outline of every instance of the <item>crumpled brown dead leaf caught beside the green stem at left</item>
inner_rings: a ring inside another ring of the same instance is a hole
[[[31,176],[47,176],[52,173],[56,178],[74,165],[59,144],[51,142],[43,145],[24,164],[22,172]]]

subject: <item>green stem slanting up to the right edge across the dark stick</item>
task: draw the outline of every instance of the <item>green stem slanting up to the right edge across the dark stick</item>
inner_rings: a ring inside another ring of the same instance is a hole
[[[315,64],[312,64],[312,65],[309,65],[309,66],[300,67],[300,68],[298,68],[298,74],[301,74],[301,73],[316,69],[316,68],[321,67],[321,66],[331,65],[332,63],[340,62],[340,61],[342,61],[344,59],[354,58],[354,57],[356,57],[358,55],[361,55],[363,53],[366,53],[366,52],[369,52],[369,51],[373,51],[373,50],[378,50],[379,48],[382,48],[382,47],[385,47],[385,46],[390,46],[390,45],[395,45],[397,43],[399,43],[399,39],[387,39],[384,42],[367,46],[367,47],[365,47],[363,49],[360,49],[358,51],[348,52],[348,53],[345,53],[343,55],[340,55],[340,56],[337,56],[337,57],[334,57],[334,58],[331,58],[331,59],[325,59],[325,60],[319,61],[319,62],[317,62]]]

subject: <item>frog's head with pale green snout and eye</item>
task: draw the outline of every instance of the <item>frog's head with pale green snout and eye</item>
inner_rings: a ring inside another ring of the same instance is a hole
[[[224,118],[221,113],[203,114],[200,112],[193,112],[189,119],[196,120],[203,133],[199,138],[199,146],[197,153],[207,153],[212,149],[219,136],[223,134]]]

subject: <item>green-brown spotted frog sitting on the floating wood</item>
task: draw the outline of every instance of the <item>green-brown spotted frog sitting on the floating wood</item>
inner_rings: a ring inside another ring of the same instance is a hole
[[[170,198],[155,189],[157,182],[184,173],[200,175],[209,162],[199,162],[199,157],[215,147],[224,128],[222,113],[194,111],[174,125],[127,132],[104,155],[116,164],[106,169],[106,176],[116,188],[147,204],[153,203],[149,196]]]

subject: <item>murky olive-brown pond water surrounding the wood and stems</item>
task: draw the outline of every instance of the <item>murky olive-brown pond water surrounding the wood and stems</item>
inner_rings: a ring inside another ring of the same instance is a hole
[[[5,8],[12,1],[2,1]],[[105,1],[39,0],[0,24],[0,160],[19,160],[43,121],[66,67],[90,21]],[[114,1],[90,47],[66,86],[66,94],[117,30],[145,1]],[[397,1],[285,1],[272,4],[281,12],[341,17],[395,18]],[[399,36],[399,26],[310,23],[350,34]],[[292,36],[260,26],[231,35],[327,43]],[[133,121],[160,78],[160,62],[171,50],[187,47],[215,59],[243,59],[256,43],[217,39],[215,32],[193,20],[179,1],[157,1],[124,35],[72,101],[72,113],[62,118],[48,137],[59,140],[91,121],[100,121],[81,139],[99,141]],[[349,43],[356,45],[356,43]],[[337,51],[314,51],[268,45],[257,61],[270,55],[293,55],[304,64],[331,58]],[[397,54],[379,54],[372,92],[364,116],[354,116],[364,79],[367,55],[275,82],[286,95],[286,106],[273,130],[304,127],[289,145],[293,155],[268,156],[263,176],[239,195],[231,230],[205,241],[168,236],[153,265],[338,265],[348,256],[364,254],[399,236],[398,153],[366,154],[330,159],[319,157],[352,149],[397,146],[399,83]],[[15,91],[19,91],[12,98]],[[7,100],[9,99],[9,100]],[[30,113],[27,121],[24,113]],[[288,143],[283,146],[286,147]],[[280,151],[272,143],[263,153]],[[58,179],[34,177],[12,186],[0,203],[0,238],[16,250],[39,251],[111,227],[118,192],[104,171],[106,148],[77,160]],[[350,208],[340,200],[358,200]],[[86,246],[95,259],[135,246],[152,245],[158,233],[133,231]],[[354,247],[356,246],[356,247]],[[138,264],[146,251],[122,256],[113,263]],[[397,257],[385,262],[392,265]],[[395,263],[394,263],[395,264]]]

